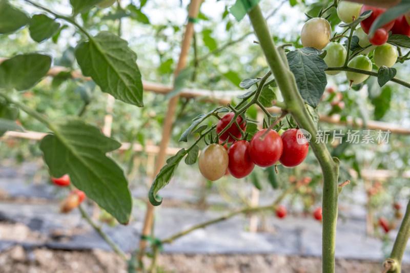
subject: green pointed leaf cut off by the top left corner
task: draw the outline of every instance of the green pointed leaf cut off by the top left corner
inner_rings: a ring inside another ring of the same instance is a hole
[[[26,13],[10,6],[7,0],[0,0],[0,34],[13,32],[29,22]]]

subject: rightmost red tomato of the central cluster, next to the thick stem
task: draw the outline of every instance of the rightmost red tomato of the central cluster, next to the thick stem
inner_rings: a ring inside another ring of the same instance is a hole
[[[283,153],[279,162],[285,167],[294,167],[302,163],[309,152],[309,142],[302,132],[297,129],[289,129],[281,135],[281,138]]]

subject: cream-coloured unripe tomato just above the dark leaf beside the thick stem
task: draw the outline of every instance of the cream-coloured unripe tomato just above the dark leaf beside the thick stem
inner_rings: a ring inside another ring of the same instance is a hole
[[[332,28],[324,18],[312,18],[303,25],[300,41],[303,47],[324,49],[332,34]]]

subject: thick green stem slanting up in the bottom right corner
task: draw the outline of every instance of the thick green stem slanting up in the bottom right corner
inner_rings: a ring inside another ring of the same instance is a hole
[[[401,260],[403,258],[404,250],[407,245],[408,238],[410,237],[410,200],[407,204],[406,213],[403,221],[401,222],[399,233],[397,234],[396,241],[394,242],[392,254],[384,262],[384,266],[392,266],[387,271],[388,273],[400,273],[401,272]]]

